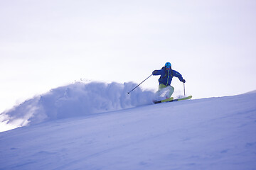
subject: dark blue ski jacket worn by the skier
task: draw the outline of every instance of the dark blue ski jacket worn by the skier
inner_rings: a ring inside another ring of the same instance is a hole
[[[161,75],[161,77],[159,78],[159,84],[164,84],[165,86],[170,86],[173,77],[178,77],[180,81],[183,81],[181,74],[173,69],[167,70],[165,67],[159,70],[154,70],[152,74],[154,76]]]

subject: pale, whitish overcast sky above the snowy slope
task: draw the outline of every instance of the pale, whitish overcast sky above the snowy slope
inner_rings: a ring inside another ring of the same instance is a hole
[[[79,79],[139,84],[165,62],[194,98],[256,89],[256,1],[0,1],[0,113]],[[143,89],[158,88],[150,77]],[[178,79],[172,86],[183,93]]]

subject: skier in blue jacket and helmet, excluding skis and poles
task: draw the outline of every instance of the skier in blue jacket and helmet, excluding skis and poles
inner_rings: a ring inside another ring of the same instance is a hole
[[[171,80],[173,77],[178,77],[178,79],[185,83],[185,79],[182,78],[181,74],[171,69],[171,63],[166,62],[164,67],[159,70],[154,70],[152,72],[154,76],[161,75],[159,78],[159,89],[156,91],[156,96],[164,96],[165,98],[170,98],[174,93],[174,87],[171,86]]]

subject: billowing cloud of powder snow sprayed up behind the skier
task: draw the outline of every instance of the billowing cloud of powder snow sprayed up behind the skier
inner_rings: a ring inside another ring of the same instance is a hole
[[[132,82],[76,82],[31,98],[1,113],[0,120],[2,125],[13,128],[150,104],[154,98],[152,91],[137,88],[127,94],[136,85]]]

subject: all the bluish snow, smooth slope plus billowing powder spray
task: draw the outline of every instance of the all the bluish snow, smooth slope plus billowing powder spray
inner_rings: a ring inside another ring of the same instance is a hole
[[[27,121],[0,133],[0,169],[256,169],[255,93],[154,105],[133,87],[72,84],[2,113]]]

